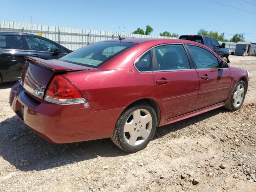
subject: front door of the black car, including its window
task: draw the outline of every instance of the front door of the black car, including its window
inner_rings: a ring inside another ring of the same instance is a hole
[[[57,44],[38,38],[35,36],[26,36],[26,42],[28,44],[29,54],[33,57],[42,59],[58,59],[66,55],[66,53],[60,53],[60,55],[53,52],[58,48]]]

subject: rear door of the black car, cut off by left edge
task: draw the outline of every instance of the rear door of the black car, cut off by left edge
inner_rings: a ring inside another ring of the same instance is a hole
[[[24,56],[28,56],[28,52],[23,50],[19,35],[0,36],[0,73],[4,81],[15,81],[20,78],[25,63]]]

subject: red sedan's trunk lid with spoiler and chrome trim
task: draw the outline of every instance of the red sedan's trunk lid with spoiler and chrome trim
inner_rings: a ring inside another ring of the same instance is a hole
[[[20,84],[26,92],[39,100],[43,99],[46,87],[54,74],[94,69],[59,60],[44,60],[35,57],[25,58],[27,61],[22,70]]]

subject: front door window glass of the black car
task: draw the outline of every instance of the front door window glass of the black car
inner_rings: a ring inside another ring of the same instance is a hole
[[[28,42],[29,49],[33,51],[53,52],[53,49],[57,48],[56,44],[41,38],[26,36],[26,40]]]

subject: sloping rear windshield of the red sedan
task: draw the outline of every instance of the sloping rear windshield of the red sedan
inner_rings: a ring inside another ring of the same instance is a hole
[[[97,68],[135,44],[128,42],[98,42],[80,48],[59,60]]]

